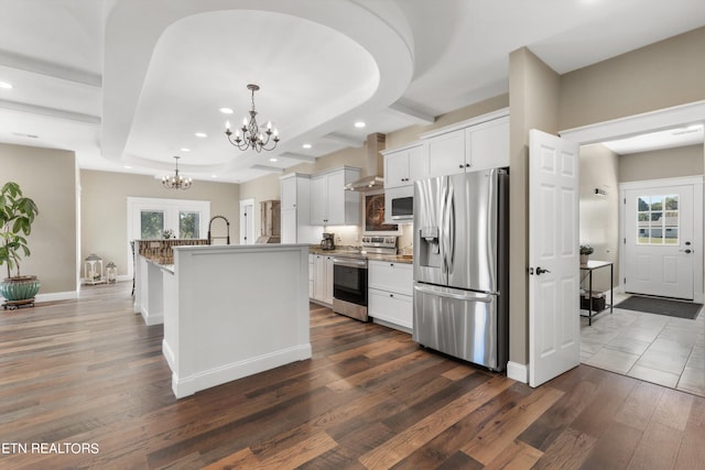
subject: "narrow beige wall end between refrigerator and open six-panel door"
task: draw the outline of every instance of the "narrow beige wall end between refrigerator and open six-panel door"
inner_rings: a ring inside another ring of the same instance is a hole
[[[509,360],[529,362],[529,130],[556,133],[560,77],[528,48],[509,56]]]

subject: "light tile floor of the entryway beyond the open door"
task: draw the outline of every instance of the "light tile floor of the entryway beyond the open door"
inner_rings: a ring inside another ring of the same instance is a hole
[[[628,297],[615,293],[615,305]],[[695,320],[615,308],[581,317],[581,361],[705,396],[705,313]]]

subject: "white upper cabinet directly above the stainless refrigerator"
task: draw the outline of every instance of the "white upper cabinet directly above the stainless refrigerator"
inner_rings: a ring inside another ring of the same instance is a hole
[[[429,145],[429,174],[453,175],[509,166],[506,109],[422,135]]]

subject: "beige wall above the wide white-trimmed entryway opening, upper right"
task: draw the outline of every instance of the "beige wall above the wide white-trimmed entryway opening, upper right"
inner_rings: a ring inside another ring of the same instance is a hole
[[[705,28],[565,74],[561,129],[705,99]]]

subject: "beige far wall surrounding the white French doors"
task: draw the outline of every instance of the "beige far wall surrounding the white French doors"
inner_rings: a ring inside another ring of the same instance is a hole
[[[113,261],[118,274],[128,272],[127,198],[154,197],[167,199],[209,200],[210,216],[224,216],[230,222],[230,243],[238,243],[239,185],[229,183],[194,182],[188,190],[162,187],[151,176],[126,173],[80,171],[80,260],[96,253],[104,265]],[[216,230],[223,233],[216,233]],[[223,223],[214,225],[214,237],[225,236]],[[204,238],[207,233],[203,234]],[[82,272],[83,275],[83,264]]]

